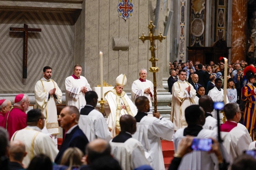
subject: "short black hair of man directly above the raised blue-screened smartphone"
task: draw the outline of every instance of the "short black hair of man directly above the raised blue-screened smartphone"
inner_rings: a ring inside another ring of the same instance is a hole
[[[195,105],[188,106],[185,109],[185,118],[188,125],[195,124],[199,120],[199,117],[202,114],[203,114],[203,111],[200,109],[199,105],[195,104]]]

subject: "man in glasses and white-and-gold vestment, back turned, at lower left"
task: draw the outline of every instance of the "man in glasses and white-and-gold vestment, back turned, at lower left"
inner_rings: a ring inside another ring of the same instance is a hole
[[[53,162],[59,152],[50,136],[41,132],[44,121],[41,110],[32,109],[27,113],[27,127],[12,135],[11,141],[19,140],[25,144],[27,155],[22,161],[25,167],[28,167],[32,158],[38,154],[47,155]]]

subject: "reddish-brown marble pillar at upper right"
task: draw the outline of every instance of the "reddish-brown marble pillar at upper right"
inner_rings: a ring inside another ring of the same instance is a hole
[[[231,63],[246,58],[247,0],[232,2]]]

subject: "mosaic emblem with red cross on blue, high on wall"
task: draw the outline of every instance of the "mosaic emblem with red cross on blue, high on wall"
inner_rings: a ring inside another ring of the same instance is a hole
[[[117,5],[119,16],[123,17],[125,20],[132,17],[133,4],[132,0],[119,0]]]

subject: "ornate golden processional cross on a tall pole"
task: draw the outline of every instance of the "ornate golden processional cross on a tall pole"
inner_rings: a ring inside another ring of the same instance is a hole
[[[153,28],[155,27],[153,24],[153,21],[150,21],[150,24],[147,26],[149,29],[149,35],[145,36],[144,33],[142,33],[142,36],[139,37],[139,39],[142,40],[142,42],[144,43],[145,40],[149,40],[150,41],[150,48],[149,50],[151,51],[151,58],[149,59],[149,61],[152,62],[152,67],[149,68],[150,72],[153,72],[153,84],[154,84],[154,112],[157,112],[157,100],[156,100],[156,72],[159,70],[158,67],[156,67],[156,62],[158,61],[158,58],[155,57],[155,50],[157,48],[155,48],[155,40],[159,40],[160,42],[162,42],[163,39],[165,39],[166,37],[163,36],[162,32],[160,32],[160,34],[158,36],[154,36],[153,33]]]

